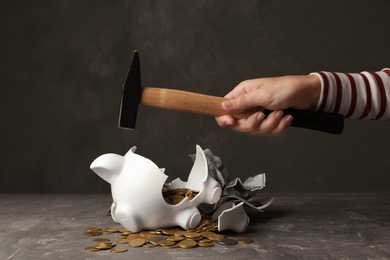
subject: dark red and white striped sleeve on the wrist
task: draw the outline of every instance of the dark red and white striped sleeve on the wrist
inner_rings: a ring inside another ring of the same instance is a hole
[[[352,119],[390,120],[390,69],[311,74],[317,75],[322,85],[316,110]]]

